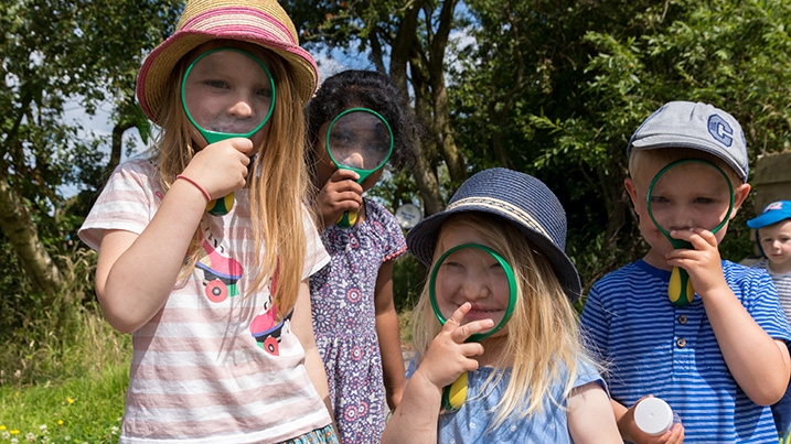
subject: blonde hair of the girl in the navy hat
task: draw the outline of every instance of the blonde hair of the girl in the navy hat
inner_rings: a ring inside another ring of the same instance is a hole
[[[512,266],[520,297],[507,326],[507,336],[498,353],[495,367],[511,367],[504,396],[495,405],[491,427],[511,418],[524,419],[542,413],[545,401],[563,407],[579,371],[579,360],[594,361],[582,346],[577,316],[548,260],[512,223],[482,213],[452,215],[442,224],[434,262],[447,249],[443,237],[457,227],[480,232],[490,247]],[[423,289],[413,316],[413,342],[418,359],[426,354],[441,329],[429,301],[428,282]],[[512,360],[511,364],[509,361]],[[503,372],[487,379],[485,396],[500,382]],[[553,387],[563,387],[555,399]]]

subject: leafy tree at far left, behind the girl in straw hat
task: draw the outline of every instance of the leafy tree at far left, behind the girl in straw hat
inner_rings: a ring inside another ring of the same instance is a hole
[[[181,3],[0,4],[0,240],[14,259],[4,263],[4,274],[15,275],[19,286],[26,283],[53,300],[63,284],[55,256],[64,251],[81,221],[79,215],[68,213],[63,186],[71,184],[90,195],[106,171],[98,150],[105,141],[84,138],[79,126],[65,121],[65,107],[81,100],[94,113],[109,100],[118,134],[137,127],[146,137],[148,122],[132,106],[135,77],[143,54],[173,29]],[[120,158],[120,140],[114,162]]]

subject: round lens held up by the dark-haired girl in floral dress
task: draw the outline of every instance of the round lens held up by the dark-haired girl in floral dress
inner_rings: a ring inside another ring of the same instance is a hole
[[[387,162],[391,134],[386,122],[367,111],[352,111],[329,129],[328,150],[339,166],[377,170]]]

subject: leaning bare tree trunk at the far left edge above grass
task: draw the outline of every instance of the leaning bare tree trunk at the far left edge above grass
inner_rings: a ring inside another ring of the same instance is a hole
[[[34,290],[49,296],[63,285],[57,266],[39,239],[39,232],[6,173],[0,174],[0,228],[17,252]]]

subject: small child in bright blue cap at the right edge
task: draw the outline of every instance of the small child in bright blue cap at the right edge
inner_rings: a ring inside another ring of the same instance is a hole
[[[763,257],[751,267],[769,273],[785,317],[791,320],[791,201],[770,203],[747,226],[756,230],[756,245]],[[791,385],[772,404],[772,414],[781,443],[791,443]]]

